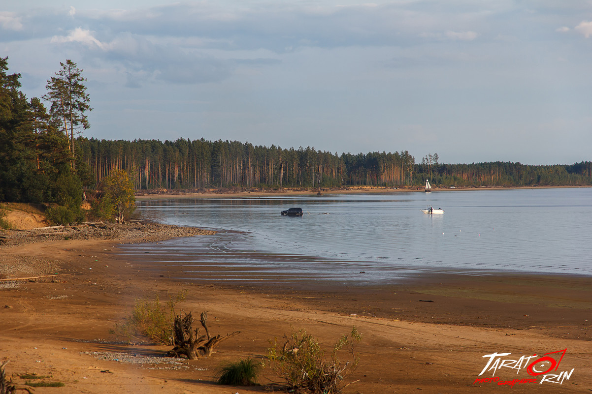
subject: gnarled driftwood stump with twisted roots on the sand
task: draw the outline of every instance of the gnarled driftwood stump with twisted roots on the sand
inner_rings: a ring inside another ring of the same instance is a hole
[[[224,336],[215,335],[210,336],[208,330],[208,312],[202,312],[200,322],[204,327],[205,335],[198,335],[200,328],[193,330],[193,317],[191,312],[182,317],[183,311],[175,317],[175,328],[173,330],[173,349],[169,350],[167,356],[182,357],[185,356],[189,360],[197,360],[199,357],[208,357],[214,353],[214,346],[218,343],[227,340],[234,335],[240,334],[240,331],[234,331],[232,334]]]

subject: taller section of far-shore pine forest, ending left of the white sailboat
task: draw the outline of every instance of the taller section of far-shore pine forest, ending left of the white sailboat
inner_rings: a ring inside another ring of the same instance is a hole
[[[126,170],[137,189],[396,187],[411,185],[415,164],[407,151],[338,156],[311,147],[203,138],[161,142],[79,137],[76,144],[80,160],[93,174],[92,183]]]

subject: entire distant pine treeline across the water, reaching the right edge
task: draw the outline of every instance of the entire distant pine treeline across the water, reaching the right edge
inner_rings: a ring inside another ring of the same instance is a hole
[[[79,161],[92,173],[87,187],[113,170],[130,173],[136,189],[339,188],[386,186],[592,185],[592,162],[529,166],[520,163],[416,164],[407,151],[337,153],[311,147],[253,146],[240,141],[78,138]]]

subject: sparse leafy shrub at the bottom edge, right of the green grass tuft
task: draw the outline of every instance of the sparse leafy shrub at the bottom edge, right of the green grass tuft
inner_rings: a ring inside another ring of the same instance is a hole
[[[268,351],[272,369],[281,376],[288,390],[313,394],[340,393],[343,380],[355,372],[359,354],[355,345],[362,339],[355,327],[350,334],[343,335],[333,345],[331,356],[327,358],[316,338],[306,331],[292,331],[284,335],[285,343],[280,348],[274,341]],[[342,361],[339,354],[345,353],[349,360]]]

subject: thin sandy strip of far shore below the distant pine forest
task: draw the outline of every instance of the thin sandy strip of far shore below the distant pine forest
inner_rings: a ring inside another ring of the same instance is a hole
[[[475,187],[475,188],[435,188],[432,192],[455,192],[455,191],[473,191],[473,190],[519,190],[519,189],[575,189],[575,188],[592,188],[592,186],[511,186],[509,188],[503,187]],[[139,200],[156,200],[156,199],[179,199],[179,198],[227,198],[227,197],[263,197],[263,196],[316,196],[318,189],[297,190],[297,189],[253,189],[240,191],[224,191],[219,192],[217,189],[208,189],[204,192],[192,192],[184,190],[163,189],[166,192],[146,193],[140,192],[136,194],[136,199]],[[398,193],[398,192],[425,192],[423,188],[408,189],[408,188],[384,188],[372,186],[352,186],[347,189],[322,189],[321,195],[331,194],[353,194],[353,193]]]

